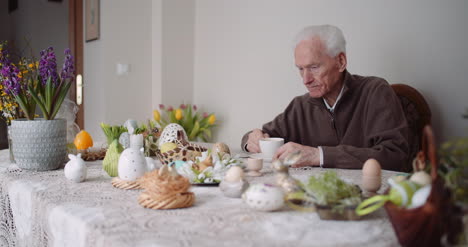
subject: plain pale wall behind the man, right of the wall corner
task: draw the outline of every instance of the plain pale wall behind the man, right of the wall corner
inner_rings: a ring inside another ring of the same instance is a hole
[[[304,26],[333,24],[351,73],[417,88],[439,140],[466,135],[468,2],[202,0],[195,11],[194,102],[219,116],[216,138],[242,135],[305,93],[291,47]]]

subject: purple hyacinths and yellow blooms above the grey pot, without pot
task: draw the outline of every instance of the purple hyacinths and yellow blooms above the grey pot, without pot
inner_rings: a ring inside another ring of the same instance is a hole
[[[65,62],[59,75],[53,48],[49,47],[40,54],[39,62],[33,58],[20,58],[15,65],[8,51],[2,49],[2,95],[5,99],[14,99],[28,120],[34,120],[36,105],[44,119],[53,120],[74,80],[73,56],[70,49],[65,50]]]

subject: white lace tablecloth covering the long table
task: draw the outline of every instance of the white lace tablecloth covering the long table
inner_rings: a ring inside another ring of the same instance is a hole
[[[360,221],[325,221],[316,213],[284,208],[251,210],[218,187],[194,186],[193,207],[151,210],[137,203],[140,191],[119,190],[88,162],[88,179],[68,181],[63,169],[15,169],[0,151],[0,246],[395,246],[396,235],[383,209]],[[267,164],[268,165],[268,164]],[[266,167],[250,182],[273,182]],[[324,169],[291,170],[305,181]],[[360,170],[336,170],[359,184]],[[393,175],[383,171],[383,181]],[[381,191],[388,188],[385,183]]]

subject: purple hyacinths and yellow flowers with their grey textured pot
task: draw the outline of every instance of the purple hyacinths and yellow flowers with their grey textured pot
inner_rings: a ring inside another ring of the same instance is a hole
[[[15,99],[26,118],[11,121],[13,155],[20,168],[45,171],[57,169],[66,160],[66,120],[55,119],[74,80],[73,56],[65,50],[60,75],[52,47],[41,59],[21,58],[15,65],[8,52],[0,57],[0,81],[4,92]],[[43,118],[36,118],[36,106]]]

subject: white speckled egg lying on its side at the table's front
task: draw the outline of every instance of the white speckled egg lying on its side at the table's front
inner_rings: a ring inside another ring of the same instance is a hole
[[[242,195],[247,205],[259,211],[275,211],[284,206],[284,192],[271,184],[253,184]]]

